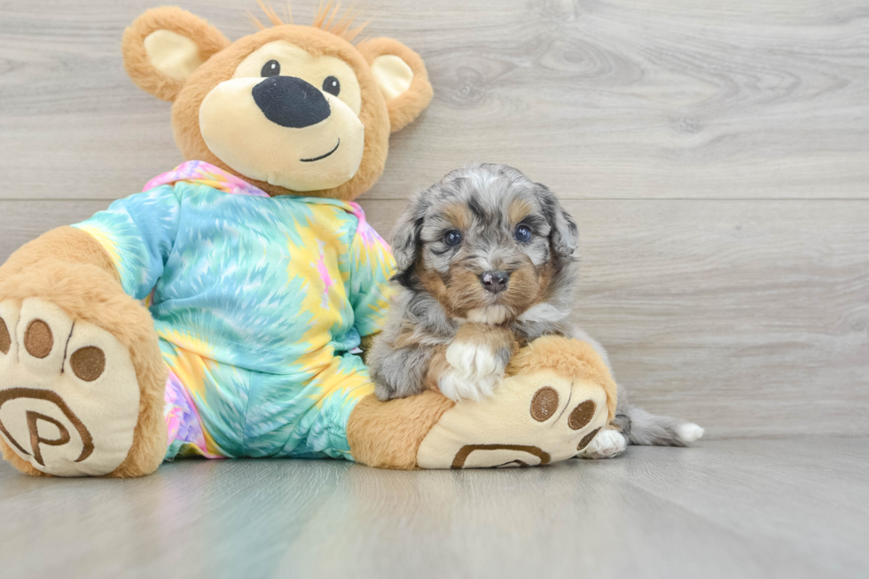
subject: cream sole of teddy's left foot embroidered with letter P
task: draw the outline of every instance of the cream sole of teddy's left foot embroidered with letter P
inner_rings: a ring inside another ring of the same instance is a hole
[[[38,299],[0,303],[0,436],[43,473],[111,473],[127,458],[139,388],[129,352]]]

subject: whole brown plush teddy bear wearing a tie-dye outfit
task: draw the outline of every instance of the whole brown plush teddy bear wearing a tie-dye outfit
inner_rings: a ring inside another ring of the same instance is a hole
[[[615,411],[591,347],[544,338],[481,403],[374,395],[360,346],[393,268],[352,203],[428,105],[419,55],[327,8],[231,43],[142,14],[124,66],[187,162],[0,268],[0,447],[23,473],[127,477],[199,455],[388,468],[540,465]]]

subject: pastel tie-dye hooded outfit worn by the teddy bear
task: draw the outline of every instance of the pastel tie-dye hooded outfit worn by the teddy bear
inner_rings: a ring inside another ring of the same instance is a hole
[[[270,197],[191,161],[74,227],[148,300],[167,458],[352,459],[349,413],[373,391],[354,352],[380,331],[394,268],[361,207]]]

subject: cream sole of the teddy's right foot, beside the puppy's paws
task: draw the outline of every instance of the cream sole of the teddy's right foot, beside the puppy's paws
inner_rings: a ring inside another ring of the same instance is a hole
[[[513,376],[491,398],[460,402],[444,412],[419,445],[417,465],[546,465],[574,457],[606,422],[607,393],[591,380],[548,371]]]

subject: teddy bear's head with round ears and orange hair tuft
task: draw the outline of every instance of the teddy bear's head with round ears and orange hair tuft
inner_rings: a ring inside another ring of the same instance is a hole
[[[172,101],[187,160],[205,160],[270,195],[353,200],[380,177],[389,135],[428,106],[419,55],[326,5],[311,26],[271,27],[233,43],[190,12],[160,7],[123,36],[139,88]],[[255,19],[254,19],[255,21]]]

